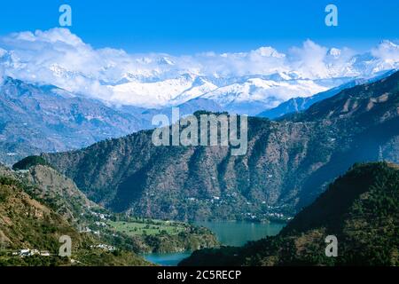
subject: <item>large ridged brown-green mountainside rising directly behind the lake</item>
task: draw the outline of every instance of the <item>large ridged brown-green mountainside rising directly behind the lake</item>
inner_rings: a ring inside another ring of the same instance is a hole
[[[248,151],[152,144],[152,130],[43,154],[90,199],[135,216],[201,219],[293,214],[355,162],[399,162],[399,73],[340,91],[272,122],[249,117]]]

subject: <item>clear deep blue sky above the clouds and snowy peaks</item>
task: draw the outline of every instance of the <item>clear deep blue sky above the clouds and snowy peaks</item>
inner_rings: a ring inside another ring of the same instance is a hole
[[[71,31],[94,47],[130,52],[282,51],[306,39],[327,46],[369,49],[399,38],[399,1],[7,1],[0,35],[59,26],[59,5],[73,9]],[[325,26],[325,6],[336,4],[339,27]]]

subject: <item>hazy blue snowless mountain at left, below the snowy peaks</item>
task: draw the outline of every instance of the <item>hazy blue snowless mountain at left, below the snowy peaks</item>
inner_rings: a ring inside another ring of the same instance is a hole
[[[200,98],[178,107],[181,115],[221,110]],[[27,155],[79,149],[151,129],[155,114],[170,116],[171,108],[109,106],[55,86],[7,77],[0,84],[0,161],[12,164]]]

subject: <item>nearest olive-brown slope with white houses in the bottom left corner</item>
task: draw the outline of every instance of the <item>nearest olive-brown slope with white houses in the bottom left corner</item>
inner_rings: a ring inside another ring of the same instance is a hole
[[[59,192],[62,192],[62,188]],[[26,178],[0,165],[0,266],[149,264],[141,256],[123,248],[114,251],[97,248],[104,243],[103,240],[88,233],[79,233],[68,222],[66,215],[61,214],[64,209],[60,209],[60,212],[53,209],[57,207],[56,201],[60,200],[52,195],[56,192],[44,194],[41,201],[33,198],[37,193],[38,188],[27,182]],[[47,201],[51,200],[53,203],[48,204]],[[72,239],[70,258],[58,256],[61,235],[68,235]],[[51,256],[14,255],[20,249],[27,248],[48,251]]]

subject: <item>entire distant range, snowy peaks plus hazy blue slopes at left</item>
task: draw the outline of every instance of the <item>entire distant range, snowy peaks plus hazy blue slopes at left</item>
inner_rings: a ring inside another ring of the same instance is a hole
[[[77,37],[66,29],[46,33],[62,38],[66,45],[77,44],[85,52],[100,52],[76,42]],[[47,37],[37,40],[52,44]],[[181,115],[206,110],[278,119],[344,89],[378,80],[389,74],[387,70],[399,67],[395,57],[379,55],[399,51],[395,43],[384,41],[364,54],[348,56],[346,51],[326,50],[322,67],[312,72],[303,62],[291,62],[287,54],[262,47],[190,59],[104,51],[105,62],[96,61],[101,71],[87,74],[85,68],[72,70],[67,62],[35,62],[27,54],[31,43],[24,44],[27,46],[22,50],[16,46],[15,50],[0,48],[0,73],[4,75],[0,78],[0,161],[8,165],[27,155],[79,149],[106,138],[152,129],[153,116],[170,116],[172,106],[179,107]],[[303,48],[314,44],[307,42]],[[59,51],[53,52],[51,56],[59,56]],[[79,55],[76,52],[74,56]],[[109,56],[114,60],[121,56],[126,67],[109,63]],[[213,60],[223,67],[231,65],[231,70],[210,73],[207,67],[215,67]],[[260,68],[259,62],[267,70]],[[259,73],[246,70],[239,74],[237,65],[254,67]]]

